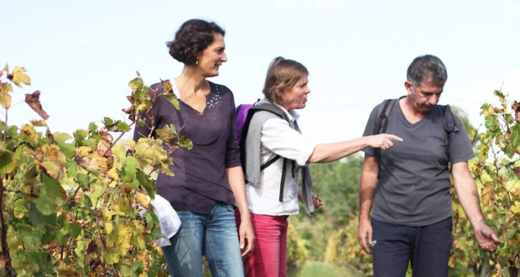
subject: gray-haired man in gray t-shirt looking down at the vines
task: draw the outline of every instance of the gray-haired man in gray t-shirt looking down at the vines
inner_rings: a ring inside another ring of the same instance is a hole
[[[453,116],[459,131],[444,129],[444,107],[437,102],[446,80],[438,57],[416,57],[408,67],[408,94],[390,109],[385,129],[403,141],[380,154],[374,148],[363,150],[358,239],[373,254],[374,276],[405,276],[408,262],[414,276],[448,275],[450,163],[456,193],[480,247],[495,251],[499,243],[480,210],[467,166],[474,153],[464,125]],[[370,114],[363,136],[374,133],[378,111],[380,106]]]

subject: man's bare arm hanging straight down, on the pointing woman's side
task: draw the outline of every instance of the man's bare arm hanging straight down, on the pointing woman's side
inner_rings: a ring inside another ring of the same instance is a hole
[[[365,154],[361,180],[359,182],[359,218],[358,218],[358,240],[361,247],[372,253],[369,244],[372,242],[372,224],[370,223],[370,210],[376,193],[377,175],[379,174],[379,163],[377,158]]]

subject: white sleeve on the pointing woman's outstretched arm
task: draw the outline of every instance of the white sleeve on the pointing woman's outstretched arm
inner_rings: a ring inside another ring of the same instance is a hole
[[[286,120],[270,118],[262,125],[261,143],[271,152],[304,166],[317,143],[292,129]]]

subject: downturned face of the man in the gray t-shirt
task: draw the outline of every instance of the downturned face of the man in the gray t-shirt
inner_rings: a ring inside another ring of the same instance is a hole
[[[423,80],[419,86],[415,86],[413,82],[404,82],[406,91],[408,91],[408,99],[415,111],[421,114],[427,114],[437,102],[439,102],[440,93],[444,86],[439,86],[432,82],[431,78]]]

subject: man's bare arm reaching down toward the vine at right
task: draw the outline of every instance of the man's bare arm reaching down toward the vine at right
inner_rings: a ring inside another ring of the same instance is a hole
[[[495,251],[500,240],[493,229],[487,226],[480,202],[478,200],[478,192],[466,161],[453,164],[453,183],[457,193],[460,205],[471,222],[471,226],[475,231],[475,238],[480,247],[485,251]]]

